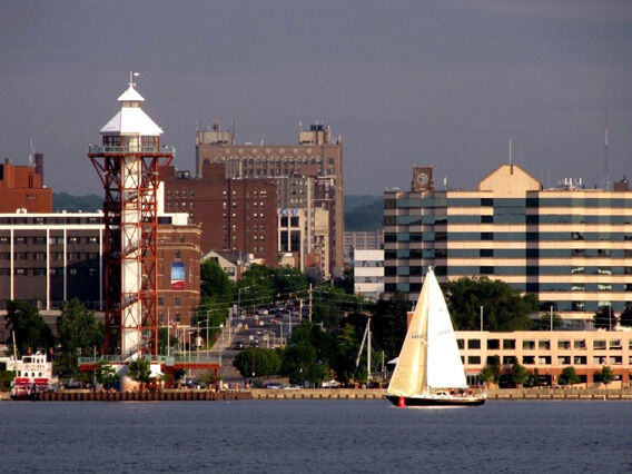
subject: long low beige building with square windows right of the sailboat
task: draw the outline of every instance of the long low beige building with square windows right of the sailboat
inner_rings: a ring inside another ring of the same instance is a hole
[[[456,340],[468,382],[491,358],[498,356],[504,373],[511,373],[514,363],[523,365],[533,375],[556,385],[565,367],[573,366],[582,383],[598,383],[604,365],[626,386],[632,374],[632,332],[630,330],[525,330],[490,333],[457,330]]]

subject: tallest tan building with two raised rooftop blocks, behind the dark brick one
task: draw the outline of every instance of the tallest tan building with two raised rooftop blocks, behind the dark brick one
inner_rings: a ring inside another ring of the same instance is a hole
[[[226,164],[226,178],[267,178],[277,187],[279,209],[303,209],[313,228],[315,207],[329,211],[329,259],[334,274],[344,266],[344,181],[343,145],[332,139],[328,127],[314,125],[300,130],[295,145],[235,144],[233,130],[198,130],[196,138],[197,174],[204,166]],[[316,243],[307,234],[309,253]]]

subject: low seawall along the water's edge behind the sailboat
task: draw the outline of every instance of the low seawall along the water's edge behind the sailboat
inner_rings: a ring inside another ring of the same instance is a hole
[[[216,392],[209,389],[161,389],[92,392],[72,389],[37,394],[38,402],[221,402],[248,399],[385,399],[385,388],[299,388]],[[0,401],[10,401],[8,392]],[[495,388],[487,401],[632,401],[632,388]]]

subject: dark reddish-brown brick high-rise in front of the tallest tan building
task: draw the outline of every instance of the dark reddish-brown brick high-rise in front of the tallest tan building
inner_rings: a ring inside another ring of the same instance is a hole
[[[201,250],[238,250],[277,265],[277,188],[267,179],[227,179],[223,164],[203,165],[201,178],[169,167],[167,213],[188,213],[201,226]]]

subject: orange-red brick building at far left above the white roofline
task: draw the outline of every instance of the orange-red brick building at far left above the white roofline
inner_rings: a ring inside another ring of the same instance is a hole
[[[36,154],[36,165],[14,166],[9,158],[0,165],[0,213],[50,213],[52,189],[43,186],[43,155]]]

